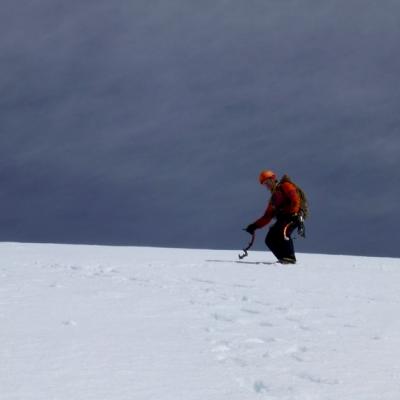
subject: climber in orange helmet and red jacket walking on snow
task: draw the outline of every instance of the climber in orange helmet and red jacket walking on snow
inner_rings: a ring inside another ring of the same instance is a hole
[[[264,215],[245,230],[253,235],[257,229],[268,225],[273,218],[276,218],[275,224],[271,226],[265,238],[265,244],[280,263],[295,264],[296,256],[291,234],[299,227],[301,199],[297,188],[287,175],[278,182],[275,173],[270,170],[262,171],[259,181],[270,190],[271,198]]]

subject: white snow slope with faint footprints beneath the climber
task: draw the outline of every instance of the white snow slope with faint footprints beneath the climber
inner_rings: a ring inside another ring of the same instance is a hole
[[[0,252],[1,400],[400,399],[400,259]]]

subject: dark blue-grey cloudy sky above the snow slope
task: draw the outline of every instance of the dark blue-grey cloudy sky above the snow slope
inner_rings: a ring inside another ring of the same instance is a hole
[[[0,240],[400,257],[398,0],[3,0]],[[256,249],[263,248],[266,230]]]

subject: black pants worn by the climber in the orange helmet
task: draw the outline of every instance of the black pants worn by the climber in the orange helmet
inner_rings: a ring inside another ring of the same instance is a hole
[[[296,261],[291,235],[298,224],[296,217],[283,217],[278,218],[269,229],[265,244],[278,260],[288,258]]]

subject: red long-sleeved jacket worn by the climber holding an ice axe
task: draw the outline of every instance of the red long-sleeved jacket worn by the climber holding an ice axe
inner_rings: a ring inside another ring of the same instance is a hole
[[[300,203],[301,200],[296,186],[287,181],[284,176],[272,192],[264,215],[254,224],[259,229],[269,224],[272,218],[280,215],[297,214],[300,211]]]

